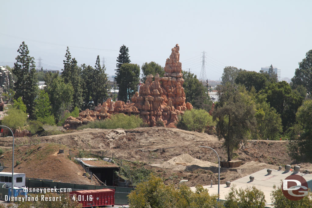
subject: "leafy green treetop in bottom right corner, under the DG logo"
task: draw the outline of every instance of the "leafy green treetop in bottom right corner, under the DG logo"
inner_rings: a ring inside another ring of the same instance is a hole
[[[273,203],[273,206],[275,208],[305,208],[305,207],[311,207],[312,204],[312,193],[309,191],[308,196],[303,197],[303,199],[300,199],[298,201],[292,201],[287,199],[280,187],[273,186],[274,190],[271,193],[271,200]]]

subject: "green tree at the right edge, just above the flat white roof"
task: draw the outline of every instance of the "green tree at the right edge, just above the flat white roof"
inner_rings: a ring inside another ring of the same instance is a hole
[[[294,159],[312,161],[312,100],[306,100],[296,114],[289,154]],[[298,129],[295,129],[298,128]],[[299,134],[299,136],[298,136]]]

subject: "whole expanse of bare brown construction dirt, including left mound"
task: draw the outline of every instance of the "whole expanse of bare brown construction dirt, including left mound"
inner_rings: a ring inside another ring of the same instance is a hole
[[[37,144],[34,144],[37,143]],[[64,153],[57,154],[58,149]],[[70,158],[79,150],[98,155],[142,162],[143,166],[163,177],[166,184],[187,179],[185,184],[210,185],[217,183],[218,160],[207,148],[214,148],[221,160],[227,159],[222,140],[206,133],[185,131],[177,128],[147,127],[136,129],[83,129],[54,136],[16,138],[15,161],[20,164],[14,172],[26,173],[26,177],[53,179],[78,184],[95,184],[95,180],[83,176],[83,168]],[[31,145],[32,144],[32,145]],[[0,138],[2,148],[12,147],[12,137]],[[263,168],[278,169],[292,164],[287,154],[287,141],[249,140],[244,148],[234,152],[233,159],[242,160],[236,168],[221,168],[221,183],[233,181]],[[0,159],[12,171],[12,152],[6,151]],[[310,163],[303,163],[312,169]]]

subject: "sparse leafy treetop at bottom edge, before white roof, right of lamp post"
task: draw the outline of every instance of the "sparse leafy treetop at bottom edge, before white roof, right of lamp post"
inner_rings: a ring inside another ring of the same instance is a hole
[[[231,191],[225,196],[226,208],[263,208],[266,204],[263,191],[256,189],[255,186],[247,187],[246,189],[236,189],[236,186],[231,186]]]

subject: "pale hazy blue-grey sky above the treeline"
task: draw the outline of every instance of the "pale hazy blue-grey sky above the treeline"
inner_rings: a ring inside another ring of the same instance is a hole
[[[225,66],[259,71],[273,64],[292,78],[312,49],[312,1],[7,1],[0,0],[0,65],[13,66],[25,41],[43,68],[63,67],[66,46],[78,64],[105,57],[115,74],[119,47],[131,63],[164,66],[176,43],[182,69],[208,79]],[[100,49],[100,50],[98,50]]]

